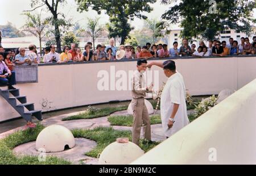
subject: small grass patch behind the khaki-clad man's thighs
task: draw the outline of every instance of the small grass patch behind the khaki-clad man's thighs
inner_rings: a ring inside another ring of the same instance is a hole
[[[133,116],[110,116],[108,118],[110,125],[133,127]],[[162,123],[160,115],[150,117],[151,125]]]

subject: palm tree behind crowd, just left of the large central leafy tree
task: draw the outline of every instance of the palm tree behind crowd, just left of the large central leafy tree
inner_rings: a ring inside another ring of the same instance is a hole
[[[104,26],[100,25],[98,21],[100,18],[88,18],[88,23],[86,25],[86,28],[81,28],[79,30],[79,33],[85,32],[93,39],[93,49],[95,50],[95,39],[101,35],[101,33],[104,31]]]

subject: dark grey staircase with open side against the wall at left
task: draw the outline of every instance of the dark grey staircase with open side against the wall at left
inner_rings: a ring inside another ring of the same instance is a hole
[[[35,110],[34,103],[27,103],[26,96],[19,95],[19,89],[1,90],[0,95],[24,118],[32,121],[32,116],[42,120],[42,111]]]

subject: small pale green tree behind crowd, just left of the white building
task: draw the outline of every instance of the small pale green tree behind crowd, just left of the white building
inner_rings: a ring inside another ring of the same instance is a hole
[[[160,22],[158,22],[156,19],[144,20],[144,28],[147,28],[152,32],[153,44],[155,44],[156,38],[163,36],[161,32],[162,28],[160,27]]]

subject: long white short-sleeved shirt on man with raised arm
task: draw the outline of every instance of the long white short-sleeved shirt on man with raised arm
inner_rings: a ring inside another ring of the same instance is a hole
[[[189,124],[187,115],[187,105],[185,101],[186,89],[183,76],[177,72],[168,78],[161,95],[161,119],[164,135],[170,137],[185,125]],[[172,128],[168,128],[168,121],[171,118],[174,103],[179,104],[179,108],[174,117],[175,123]]]

